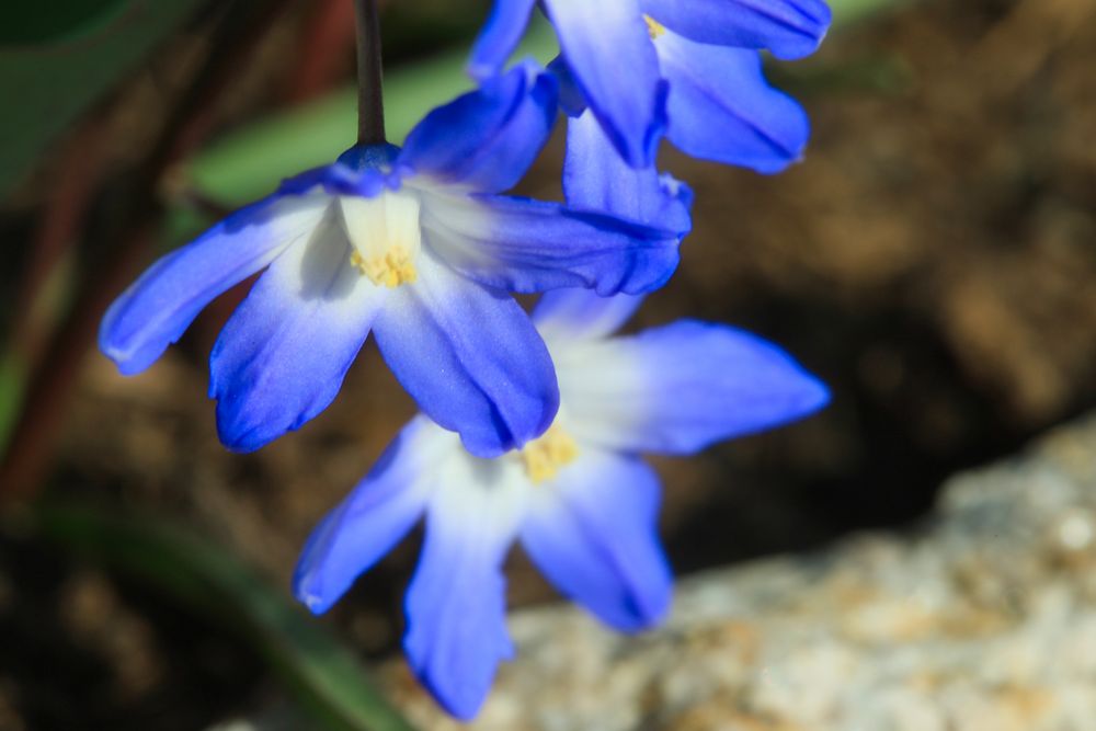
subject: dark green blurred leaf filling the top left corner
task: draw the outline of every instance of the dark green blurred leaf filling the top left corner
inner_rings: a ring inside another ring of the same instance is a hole
[[[0,196],[206,0],[2,3]],[[16,45],[18,44],[18,45]]]

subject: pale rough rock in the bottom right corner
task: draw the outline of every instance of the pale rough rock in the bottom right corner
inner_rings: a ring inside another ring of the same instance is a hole
[[[954,478],[905,535],[682,580],[658,630],[562,605],[511,630],[517,660],[472,729],[1091,730],[1096,418]],[[465,728],[402,662],[384,678],[421,728]]]

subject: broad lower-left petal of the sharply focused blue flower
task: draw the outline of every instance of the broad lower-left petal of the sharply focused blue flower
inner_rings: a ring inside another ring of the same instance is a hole
[[[209,357],[209,396],[230,449],[299,429],[334,399],[387,290],[350,266],[332,206],[308,241],[260,277]]]

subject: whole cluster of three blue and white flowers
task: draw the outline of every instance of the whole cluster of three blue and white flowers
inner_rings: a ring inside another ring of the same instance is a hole
[[[821,0],[543,0],[560,57],[505,59],[534,0],[496,0],[476,91],[429,114],[402,149],[358,146],[285,181],[156,262],[107,311],[102,351],[149,367],[215,297],[262,272],[210,356],[230,449],[320,413],[372,331],[422,413],[304,549],[294,592],[331,607],[425,516],[404,649],[470,718],[513,649],[502,566],[520,540],[607,625],[658,623],[671,574],[642,453],[692,454],[827,400],[776,346],[682,320],[614,336],[673,274],[689,189],[655,168],[682,151],[776,172],[801,157],[802,108],[760,50],[798,58]],[[568,116],[566,204],[505,195]],[[513,294],[546,293],[532,316]]]

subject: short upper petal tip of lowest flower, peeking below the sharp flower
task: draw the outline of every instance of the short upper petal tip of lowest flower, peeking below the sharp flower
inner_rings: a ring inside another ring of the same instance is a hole
[[[616,332],[643,299],[643,295],[602,297],[578,287],[552,289],[540,297],[533,310],[533,322],[549,344],[595,340]]]

